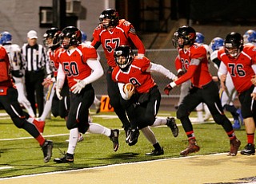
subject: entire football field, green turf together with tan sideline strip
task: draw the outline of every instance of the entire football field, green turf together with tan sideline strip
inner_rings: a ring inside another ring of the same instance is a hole
[[[166,117],[166,113],[159,113],[159,115]],[[114,121],[117,119],[114,114],[102,113],[93,117],[96,122],[105,124],[107,127],[120,126]],[[5,119],[5,117],[1,119]],[[85,140],[78,145],[74,163],[56,164],[53,159],[59,156],[58,148],[66,151],[67,143],[63,142],[68,137],[68,131],[62,121],[51,119],[46,123],[45,135],[54,139],[54,155],[50,162],[43,164],[42,153],[38,151],[38,147],[34,146],[34,140],[24,137],[27,135],[26,132],[19,131],[9,120],[6,122],[1,119],[0,126],[8,128],[5,130],[1,127],[0,184],[256,183],[256,156],[245,156],[239,153],[246,144],[244,127],[241,131],[237,131],[242,145],[235,157],[227,156],[229,145],[226,136],[223,135],[222,127],[210,119],[207,123],[194,124],[194,131],[198,135],[198,144],[201,150],[187,157],[179,156],[179,151],[186,147],[187,141],[182,126],[178,122],[180,134],[175,139],[170,136],[168,127],[152,129],[165,148],[164,155],[154,158],[145,157],[145,152],[152,147],[143,138],[143,135],[140,135],[137,145],[128,147],[123,143],[124,135],[121,130],[121,147],[116,153],[104,150],[106,148],[108,150],[108,147],[111,146],[105,137],[85,135]],[[195,123],[195,119],[192,117],[192,122]],[[14,133],[10,133],[12,131]],[[58,134],[59,132],[63,132],[63,135]],[[26,151],[25,153],[29,155],[22,154],[24,150],[19,143],[22,143],[24,147],[29,147],[30,152],[34,151],[33,154]],[[95,146],[95,143],[106,145],[106,148]],[[88,147],[90,147],[90,151]],[[20,155],[17,155],[15,151]],[[35,153],[39,155],[35,155]],[[15,154],[17,158],[11,158]],[[18,170],[24,174],[15,175]]]

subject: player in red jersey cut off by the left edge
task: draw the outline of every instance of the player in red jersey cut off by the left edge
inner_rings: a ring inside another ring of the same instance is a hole
[[[54,143],[44,137],[38,131],[34,118],[22,111],[18,103],[18,92],[14,88],[10,76],[10,62],[6,49],[0,45],[0,105],[6,110],[15,126],[27,131],[42,147],[44,162],[49,162]]]

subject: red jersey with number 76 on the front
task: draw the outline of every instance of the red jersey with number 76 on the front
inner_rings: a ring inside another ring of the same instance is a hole
[[[225,53],[225,49],[218,50],[218,59],[226,65],[230,72],[234,88],[238,93],[245,92],[252,86],[251,77],[255,75],[251,65],[256,64],[256,48],[254,45],[245,45],[239,56],[232,60]]]

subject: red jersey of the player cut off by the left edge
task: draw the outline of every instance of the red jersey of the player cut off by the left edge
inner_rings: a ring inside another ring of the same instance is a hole
[[[0,45],[0,95],[6,93],[4,88],[13,86],[10,76],[10,61],[6,49]]]

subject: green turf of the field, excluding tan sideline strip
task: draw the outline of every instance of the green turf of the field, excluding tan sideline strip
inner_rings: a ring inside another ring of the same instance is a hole
[[[2,111],[0,111],[2,112]],[[167,115],[175,115],[175,112],[159,112]],[[100,113],[99,115],[114,115],[112,112]],[[194,116],[194,112],[192,113]],[[110,128],[121,128],[118,119],[102,119],[94,116],[94,122],[100,123]],[[177,120],[177,123],[180,122]],[[142,135],[139,136],[138,143],[129,147],[125,143],[124,131],[120,131],[119,149],[113,151],[113,144],[104,135],[84,135],[85,140],[78,143],[75,151],[74,163],[57,164],[53,161],[58,158],[60,151],[66,151],[69,131],[63,119],[54,118],[46,120],[44,135],[46,139],[54,141],[53,157],[50,162],[44,163],[41,148],[34,139],[15,139],[20,137],[30,137],[28,133],[14,126],[11,120],[6,117],[0,119],[0,178],[13,177],[22,174],[38,174],[59,170],[74,170],[92,166],[104,166],[123,162],[139,162],[150,159],[166,159],[180,157],[179,153],[187,146],[187,139],[182,126],[179,126],[177,138],[171,134],[169,127],[152,127],[158,142],[164,147],[165,154],[161,156],[146,156],[146,152],[153,150],[153,147]],[[213,153],[228,152],[230,150],[229,139],[226,133],[216,123],[203,123],[194,125],[194,133],[201,150],[192,155],[207,155]],[[66,134],[66,135],[59,135]],[[242,147],[246,145],[246,132],[244,127],[236,131],[238,139],[242,141]],[[48,135],[55,135],[47,137]],[[2,140],[15,139],[15,140]],[[1,169],[1,167],[11,167]]]

